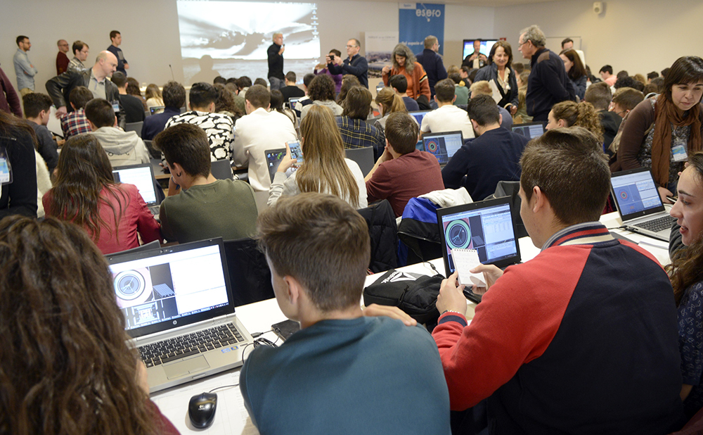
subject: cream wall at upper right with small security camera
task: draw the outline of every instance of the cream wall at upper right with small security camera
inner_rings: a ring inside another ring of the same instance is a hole
[[[507,37],[514,56],[520,30],[539,25],[547,37],[580,36],[586,63],[630,75],[661,71],[681,56],[703,56],[703,1],[608,0],[595,15],[592,0],[496,8],[495,36]]]

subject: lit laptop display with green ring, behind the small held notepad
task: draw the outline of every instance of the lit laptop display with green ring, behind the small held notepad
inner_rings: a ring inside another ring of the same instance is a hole
[[[512,215],[507,203],[444,215],[441,225],[451,272],[454,271],[451,258],[454,248],[475,249],[481,263],[495,263],[517,254]]]

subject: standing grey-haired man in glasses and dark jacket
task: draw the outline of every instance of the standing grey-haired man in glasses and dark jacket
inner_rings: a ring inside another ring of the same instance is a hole
[[[534,121],[546,121],[552,106],[560,101],[576,101],[576,92],[569,81],[564,63],[554,51],[546,49],[547,38],[536,25],[520,32],[517,49],[530,59],[532,68],[527,80],[527,114]]]

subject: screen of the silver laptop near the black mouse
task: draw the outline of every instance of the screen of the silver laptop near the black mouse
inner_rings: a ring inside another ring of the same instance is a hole
[[[223,251],[221,239],[211,239],[108,257],[127,332],[181,327],[223,308],[233,313]]]

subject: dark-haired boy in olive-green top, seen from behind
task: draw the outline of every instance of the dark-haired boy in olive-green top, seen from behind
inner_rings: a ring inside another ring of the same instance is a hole
[[[171,170],[169,196],[159,211],[167,240],[233,240],[256,232],[252,187],[241,180],[212,176],[205,131],[193,124],[176,124],[157,134],[154,146],[164,153]]]

